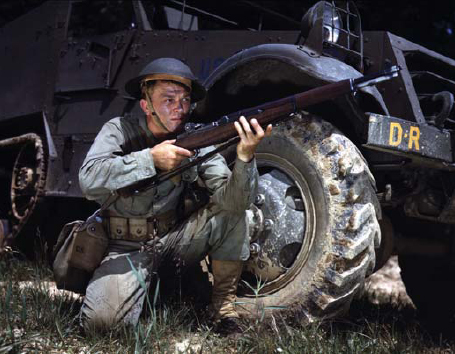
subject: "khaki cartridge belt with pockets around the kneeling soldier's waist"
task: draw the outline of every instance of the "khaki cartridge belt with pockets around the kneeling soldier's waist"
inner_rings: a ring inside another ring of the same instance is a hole
[[[113,240],[147,241],[164,236],[176,223],[175,210],[149,218],[127,218],[111,210],[103,210],[103,225]]]

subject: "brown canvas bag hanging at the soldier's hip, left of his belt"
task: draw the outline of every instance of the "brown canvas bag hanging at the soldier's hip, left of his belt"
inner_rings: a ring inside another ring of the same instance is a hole
[[[86,221],[66,224],[54,247],[57,288],[84,294],[93,271],[106,252],[108,238],[98,212]]]

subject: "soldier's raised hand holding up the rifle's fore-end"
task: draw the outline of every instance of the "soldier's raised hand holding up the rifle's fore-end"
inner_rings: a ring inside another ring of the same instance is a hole
[[[272,125],[269,124],[264,132],[256,119],[253,118],[248,123],[246,118],[242,116],[238,122],[234,123],[234,126],[240,136],[240,142],[237,145],[237,157],[244,162],[249,162],[253,159],[254,152],[261,140],[272,134]]]

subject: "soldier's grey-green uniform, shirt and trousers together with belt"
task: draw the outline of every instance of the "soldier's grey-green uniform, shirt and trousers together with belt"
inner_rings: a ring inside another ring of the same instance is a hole
[[[159,143],[147,128],[146,117],[138,119],[138,124],[148,141]],[[80,186],[88,199],[103,204],[113,191],[157,173],[150,149],[125,154],[126,143],[121,118],[104,124],[79,172]],[[211,149],[202,149],[201,155]],[[209,191],[210,201],[175,224],[181,195],[198,177]],[[222,261],[246,260],[249,236],[245,210],[256,195],[257,182],[254,159],[249,163],[237,159],[231,173],[217,154],[185,172],[181,179],[117,198],[105,213],[106,219],[115,223],[106,225],[110,237],[107,255],[88,285],[81,309],[83,325],[137,323],[149,285],[150,254],[141,248],[151,236],[159,236],[164,246],[178,240],[172,245],[172,258],[184,266],[207,254]]]

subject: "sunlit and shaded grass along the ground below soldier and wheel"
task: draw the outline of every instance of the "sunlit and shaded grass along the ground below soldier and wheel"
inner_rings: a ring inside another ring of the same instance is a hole
[[[278,315],[244,322],[241,337],[212,333],[204,308],[150,298],[137,328],[83,334],[82,299],[55,291],[50,269],[0,255],[0,353],[451,353],[455,342],[426,333],[411,308],[357,300],[349,316],[306,327]]]

